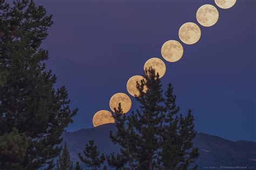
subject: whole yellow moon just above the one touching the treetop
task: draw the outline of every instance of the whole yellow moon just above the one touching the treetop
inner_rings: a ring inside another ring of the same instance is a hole
[[[183,56],[183,46],[177,40],[169,40],[162,46],[161,55],[168,62],[177,62]]]

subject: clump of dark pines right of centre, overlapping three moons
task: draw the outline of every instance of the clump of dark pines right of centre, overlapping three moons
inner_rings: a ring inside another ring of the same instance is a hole
[[[113,114],[117,132],[110,133],[110,138],[121,146],[121,152],[109,156],[109,163],[114,162],[115,167],[128,163],[150,170],[186,169],[198,157],[198,149],[192,146],[196,132],[191,111],[185,117],[177,115],[179,107],[171,84],[163,94],[159,74],[153,69],[146,69],[144,77],[146,81],[137,82],[140,107],[136,113],[125,116],[118,108]]]

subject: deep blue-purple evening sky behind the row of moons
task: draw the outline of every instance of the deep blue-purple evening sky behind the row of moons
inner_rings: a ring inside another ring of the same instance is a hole
[[[68,131],[92,127],[93,114],[110,110],[109,99],[126,92],[126,81],[142,74],[144,62],[159,57],[179,27],[196,22],[197,9],[214,1],[38,1],[55,24],[43,46],[57,86],[79,108]],[[171,82],[182,112],[193,110],[198,132],[230,140],[256,141],[256,1],[237,0],[220,9],[217,24],[200,26],[201,39],[185,45],[177,63],[165,62],[162,78]],[[132,98],[132,97],[131,97]],[[138,104],[132,98],[131,110]]]

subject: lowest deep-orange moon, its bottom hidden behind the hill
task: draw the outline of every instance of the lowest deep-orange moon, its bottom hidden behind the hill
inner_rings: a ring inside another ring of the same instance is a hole
[[[114,118],[109,111],[101,110],[93,115],[92,124],[94,127],[110,123],[114,123]]]

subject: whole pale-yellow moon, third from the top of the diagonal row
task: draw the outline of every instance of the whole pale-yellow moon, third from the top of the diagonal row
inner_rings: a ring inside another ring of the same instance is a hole
[[[195,23],[185,23],[180,26],[179,38],[185,44],[197,43],[201,37],[201,30]]]

